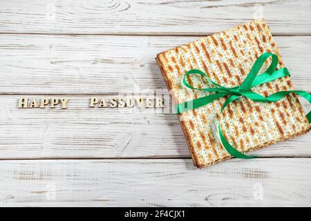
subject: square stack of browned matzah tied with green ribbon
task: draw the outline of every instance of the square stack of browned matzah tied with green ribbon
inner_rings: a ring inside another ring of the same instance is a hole
[[[180,104],[210,94],[190,90],[182,84],[188,70],[202,70],[217,84],[232,88],[241,85],[263,52],[278,55],[278,68],[284,66],[267,24],[258,19],[161,52],[156,61],[175,104]],[[260,73],[267,69],[270,59]],[[187,81],[195,88],[212,87],[200,75],[188,76]],[[280,90],[293,90],[293,86],[290,77],[282,77],[252,90],[266,97]],[[243,153],[310,130],[295,94],[272,103],[240,97],[229,104],[220,117],[220,108],[226,98],[178,115],[194,164],[200,168],[231,157],[220,142],[216,126],[220,119],[227,141]]]

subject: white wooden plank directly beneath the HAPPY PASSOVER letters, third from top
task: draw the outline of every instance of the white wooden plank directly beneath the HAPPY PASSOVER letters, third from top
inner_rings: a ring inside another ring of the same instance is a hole
[[[19,97],[0,96],[0,159],[190,157],[178,119],[167,108],[88,108],[89,96],[75,96],[67,97],[67,110],[19,109]],[[98,98],[108,102],[110,96]],[[169,99],[164,102],[169,107]],[[310,157],[310,142],[307,134],[256,154]]]

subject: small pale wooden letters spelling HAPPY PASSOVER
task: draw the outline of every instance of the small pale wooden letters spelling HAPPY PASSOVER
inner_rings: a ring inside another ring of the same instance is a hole
[[[18,108],[56,108],[67,109],[68,98],[19,98]],[[88,107],[90,108],[164,108],[163,97],[111,97],[109,101],[91,97]]]

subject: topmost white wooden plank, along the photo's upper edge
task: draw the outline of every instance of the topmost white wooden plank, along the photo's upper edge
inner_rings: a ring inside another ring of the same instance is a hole
[[[265,17],[276,34],[310,35],[310,6],[308,0],[12,0],[0,3],[0,32],[207,35]]]

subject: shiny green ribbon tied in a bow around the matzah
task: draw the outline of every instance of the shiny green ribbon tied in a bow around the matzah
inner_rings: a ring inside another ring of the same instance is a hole
[[[261,70],[261,67],[265,63],[265,61],[272,57],[272,62],[267,68],[267,70],[262,73],[261,75],[257,75],[259,73],[259,70]],[[254,102],[277,102],[286,95],[290,93],[296,93],[297,95],[301,95],[301,97],[305,98],[310,104],[311,104],[311,95],[303,90],[286,90],[286,91],[279,91],[277,93],[274,93],[270,95],[269,97],[263,97],[262,95],[259,95],[258,93],[254,93],[253,91],[249,90],[250,88],[265,84],[269,81],[273,81],[274,79],[279,79],[281,77],[290,76],[290,73],[288,72],[288,68],[281,68],[279,70],[276,70],[276,66],[278,65],[279,59],[276,55],[265,52],[263,53],[258,59],[255,61],[254,65],[252,66],[252,70],[249,72],[241,86],[236,86],[233,88],[225,88],[224,86],[220,86],[219,84],[216,84],[214,81],[212,81],[205,73],[203,73],[201,70],[197,69],[191,69],[189,70],[185,75],[183,79],[183,84],[187,88],[191,88],[194,90],[203,90],[208,92],[215,92],[211,95],[207,95],[205,97],[200,97],[198,99],[193,99],[189,102],[184,102],[181,104],[177,104],[175,106],[176,113],[180,114],[185,111],[189,111],[195,108],[199,108],[200,106],[205,106],[214,100],[229,95],[229,97],[226,99],[225,103],[223,104],[223,107],[220,110],[220,116],[221,113],[223,113],[223,110],[228,106],[231,102],[238,99],[238,97],[245,96],[249,99],[252,99]],[[214,88],[194,88],[190,84],[188,84],[186,77],[188,75],[197,74],[202,75],[211,83],[214,85]],[[308,121],[311,123],[311,111],[306,115],[308,118]],[[220,141],[227,150],[227,152],[238,158],[243,159],[250,159],[254,158],[255,156],[248,156],[244,155],[240,151],[237,151],[236,148],[234,148],[227,140],[225,139],[225,136],[223,135],[223,132],[221,131],[220,124],[218,124],[218,133],[220,135]]]

